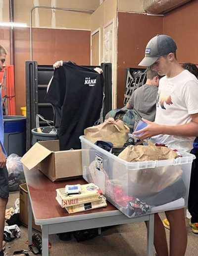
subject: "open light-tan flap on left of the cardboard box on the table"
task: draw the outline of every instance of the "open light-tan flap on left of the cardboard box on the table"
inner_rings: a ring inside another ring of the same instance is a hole
[[[52,153],[49,149],[42,146],[39,142],[34,144],[28,152],[21,158],[21,162],[31,170],[37,166],[42,160]]]

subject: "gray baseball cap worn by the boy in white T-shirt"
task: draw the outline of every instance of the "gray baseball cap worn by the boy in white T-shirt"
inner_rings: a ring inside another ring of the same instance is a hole
[[[150,66],[154,64],[160,56],[174,53],[177,50],[175,41],[166,35],[156,35],[147,44],[145,58],[139,66]]]

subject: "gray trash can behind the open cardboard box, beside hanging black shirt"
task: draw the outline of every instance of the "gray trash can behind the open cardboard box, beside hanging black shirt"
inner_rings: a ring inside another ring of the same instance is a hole
[[[32,129],[32,145],[34,145],[38,141],[58,139],[55,130],[56,129],[54,126],[39,127]],[[50,133],[52,131],[54,133]]]

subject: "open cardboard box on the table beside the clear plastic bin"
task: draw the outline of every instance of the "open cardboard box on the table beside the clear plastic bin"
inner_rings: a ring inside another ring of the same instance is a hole
[[[52,182],[66,178],[77,178],[82,173],[82,150],[59,151],[59,140],[39,141],[21,158],[31,170],[38,169]]]

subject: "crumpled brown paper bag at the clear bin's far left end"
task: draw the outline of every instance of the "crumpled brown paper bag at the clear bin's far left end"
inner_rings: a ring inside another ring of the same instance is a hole
[[[107,119],[104,123],[86,128],[85,137],[95,143],[97,140],[109,141],[113,146],[121,146],[128,139],[130,128],[121,120]]]

